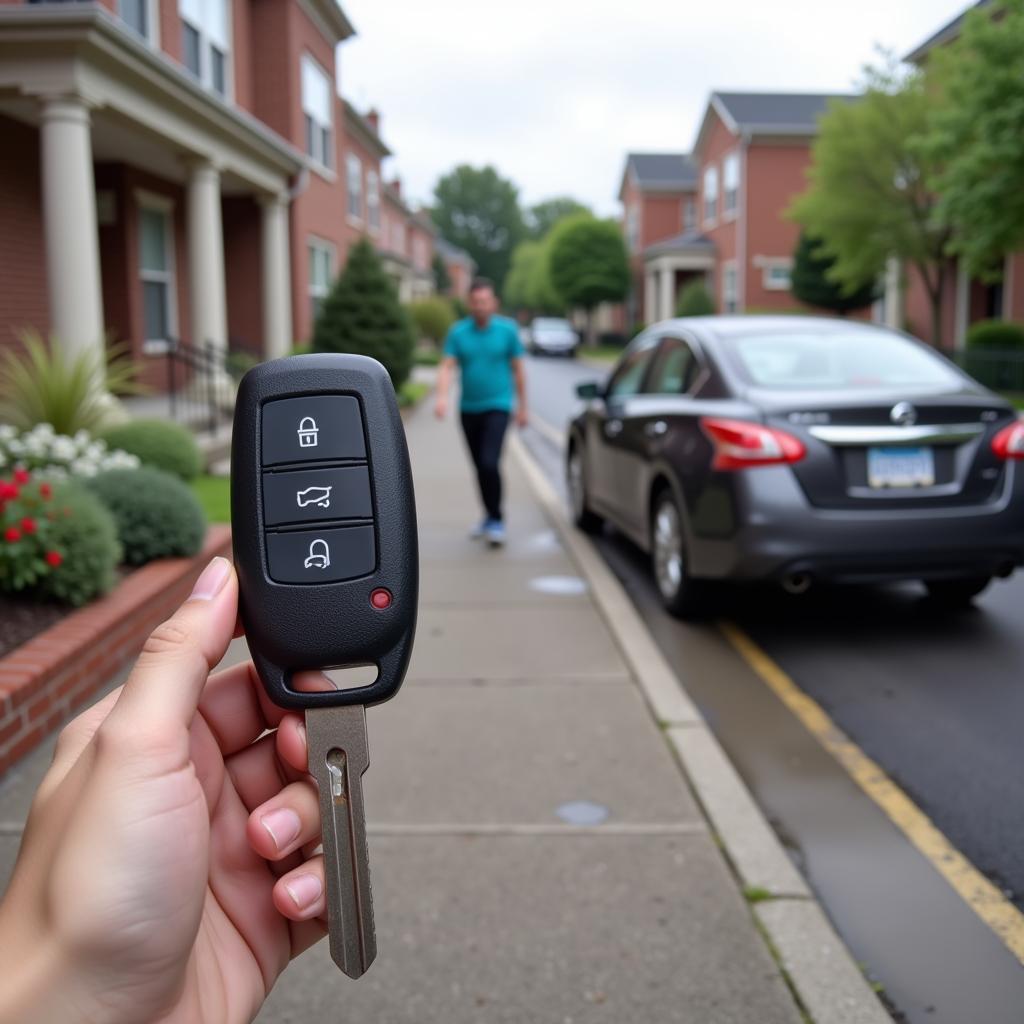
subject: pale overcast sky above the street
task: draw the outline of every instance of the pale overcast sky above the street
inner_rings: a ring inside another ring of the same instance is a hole
[[[618,212],[625,154],[687,152],[713,89],[849,91],[881,45],[906,53],[967,0],[341,0],[357,35],[341,88],[381,112],[388,176],[429,202],[456,164],[494,164],[523,203]]]

